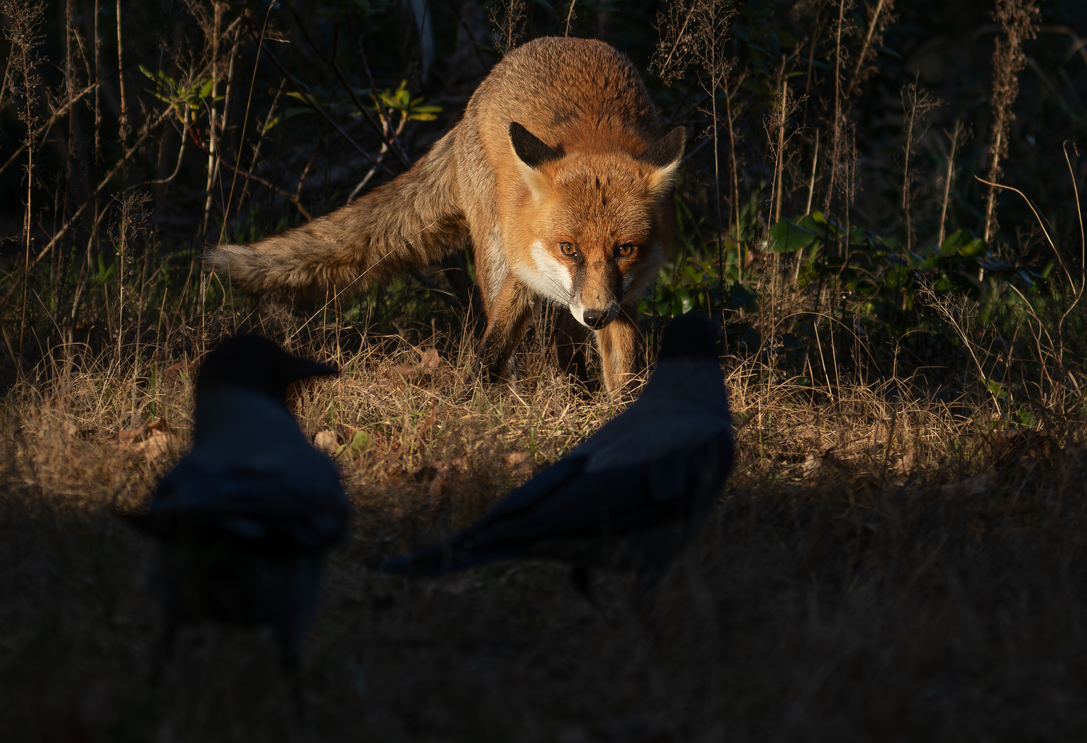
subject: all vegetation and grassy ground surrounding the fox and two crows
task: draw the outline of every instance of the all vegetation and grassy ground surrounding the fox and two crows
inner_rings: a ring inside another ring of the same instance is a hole
[[[0,11],[4,738],[299,739],[270,636],[186,634],[150,683],[151,548],[114,516],[187,448],[236,331],[342,369],[292,396],[354,506],[311,740],[1083,736],[1083,3]],[[537,309],[513,392],[472,372],[467,250],[312,307],[198,260],[395,177],[502,53],[564,33],[628,53],[688,131],[646,373],[667,318],[725,329],[735,474],[648,614],[626,577],[596,609],[545,562],[376,573],[615,413],[554,370],[565,310]]]

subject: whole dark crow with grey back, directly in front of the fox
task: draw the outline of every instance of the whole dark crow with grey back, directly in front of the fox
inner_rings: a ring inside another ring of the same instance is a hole
[[[585,570],[635,570],[648,587],[695,536],[733,466],[733,429],[716,338],[705,318],[665,329],[641,397],[479,521],[384,572],[437,575],[509,557]]]

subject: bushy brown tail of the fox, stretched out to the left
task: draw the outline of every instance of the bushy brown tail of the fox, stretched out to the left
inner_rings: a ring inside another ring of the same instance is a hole
[[[467,242],[455,188],[455,129],[396,179],[330,214],[251,245],[220,245],[204,267],[265,298],[361,292]]]

